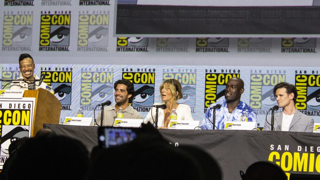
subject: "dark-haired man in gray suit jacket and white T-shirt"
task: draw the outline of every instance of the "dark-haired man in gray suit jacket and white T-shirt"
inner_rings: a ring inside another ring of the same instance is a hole
[[[294,132],[313,132],[313,118],[302,114],[295,108],[295,101],[298,96],[294,85],[282,82],[273,88],[273,94],[276,97],[279,108],[282,112],[275,114],[275,131],[294,131]],[[271,130],[271,120],[264,123],[264,129]]]

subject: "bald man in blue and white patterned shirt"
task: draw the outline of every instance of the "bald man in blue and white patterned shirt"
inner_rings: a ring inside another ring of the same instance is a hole
[[[240,121],[243,111],[247,111],[248,122],[257,121],[257,113],[246,103],[240,101],[244,92],[244,82],[240,78],[228,80],[225,89],[225,100],[219,102],[221,108],[216,110],[215,129],[224,129],[227,121]],[[212,129],[213,109],[211,104],[205,113],[201,128]]]

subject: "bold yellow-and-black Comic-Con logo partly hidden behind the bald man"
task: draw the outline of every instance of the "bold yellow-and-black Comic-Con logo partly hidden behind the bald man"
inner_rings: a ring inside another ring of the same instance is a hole
[[[212,72],[212,70],[205,70],[205,72]],[[210,104],[224,99],[224,90],[229,79],[240,78],[240,70],[232,70],[232,72],[236,73],[205,73],[204,113]]]

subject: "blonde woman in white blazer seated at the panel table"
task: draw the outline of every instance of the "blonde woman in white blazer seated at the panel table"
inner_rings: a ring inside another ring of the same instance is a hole
[[[176,79],[167,79],[162,82],[160,86],[159,96],[159,99],[161,99],[162,103],[155,103],[154,105],[165,104],[167,108],[164,110],[159,108],[157,128],[168,128],[172,109],[175,109],[177,112],[177,120],[193,120],[190,107],[185,104],[177,103],[177,101],[183,97],[181,91],[181,84]],[[151,124],[155,124],[155,120],[156,108],[152,107],[143,122],[150,122]]]

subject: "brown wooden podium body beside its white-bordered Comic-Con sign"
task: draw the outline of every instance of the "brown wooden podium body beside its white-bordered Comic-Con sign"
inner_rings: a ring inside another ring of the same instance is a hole
[[[61,102],[49,91],[43,88],[37,90],[25,90],[23,97],[34,97],[35,109],[31,136],[43,128],[43,124],[59,124]]]

